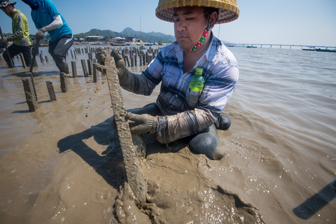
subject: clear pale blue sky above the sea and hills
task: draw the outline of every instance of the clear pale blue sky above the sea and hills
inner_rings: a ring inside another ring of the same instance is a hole
[[[174,36],[174,24],[155,16],[158,0],[54,0],[73,34],[90,29],[121,32],[161,32]],[[213,32],[222,41],[250,44],[288,44],[336,47],[336,0],[237,0],[239,18],[215,25]],[[29,33],[36,28],[31,9],[18,0],[15,8],[26,15]],[[0,12],[4,33],[12,32],[11,19]]]

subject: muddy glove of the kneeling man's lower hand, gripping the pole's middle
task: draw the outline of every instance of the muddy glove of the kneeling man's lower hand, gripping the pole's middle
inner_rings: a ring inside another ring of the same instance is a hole
[[[147,132],[150,134],[157,133],[159,120],[155,116],[151,116],[149,114],[139,115],[128,112],[125,119],[134,121],[134,123],[130,123],[130,130],[132,134],[144,134]]]

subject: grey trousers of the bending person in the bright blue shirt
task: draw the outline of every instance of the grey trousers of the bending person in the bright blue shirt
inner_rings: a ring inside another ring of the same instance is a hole
[[[66,66],[66,52],[73,44],[73,35],[66,34],[59,37],[56,41],[49,43],[49,54],[55,60],[56,66],[59,71],[69,73],[69,69]]]

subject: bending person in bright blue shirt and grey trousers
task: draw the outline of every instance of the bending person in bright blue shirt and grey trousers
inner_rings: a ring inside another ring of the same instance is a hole
[[[51,41],[48,52],[55,60],[59,71],[69,73],[66,66],[66,52],[73,44],[73,34],[56,6],[50,0],[22,0],[31,8],[31,19],[34,21],[36,38],[43,39],[48,31]],[[32,55],[36,55],[34,49]]]

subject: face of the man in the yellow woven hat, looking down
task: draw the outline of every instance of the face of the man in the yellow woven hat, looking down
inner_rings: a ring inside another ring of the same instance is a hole
[[[207,28],[204,8],[181,7],[174,8],[174,31],[177,43],[183,50],[193,48]]]

